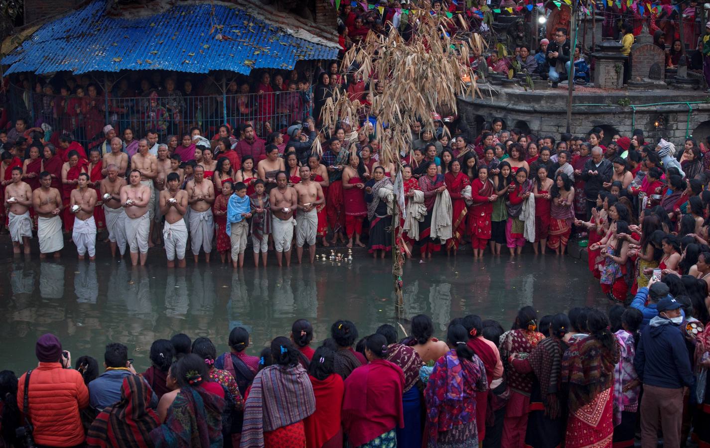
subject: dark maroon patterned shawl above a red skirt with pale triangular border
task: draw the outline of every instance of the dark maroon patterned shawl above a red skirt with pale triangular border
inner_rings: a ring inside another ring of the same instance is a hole
[[[613,350],[608,350],[592,336],[580,339],[564,352],[562,382],[569,383],[569,410],[577,412],[588,405],[599,393],[611,388],[614,365],[621,355],[616,337]]]

